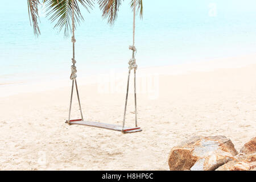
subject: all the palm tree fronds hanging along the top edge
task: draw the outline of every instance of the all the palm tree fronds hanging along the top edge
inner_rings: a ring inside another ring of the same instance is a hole
[[[125,0],[74,0],[75,26],[79,25],[81,20],[84,20],[80,11],[80,6],[84,6],[84,8],[89,11],[93,8],[94,1],[97,1],[99,4],[100,9],[102,10],[102,17],[108,19],[110,24],[113,24],[117,19],[119,6]],[[130,5],[133,7],[133,0],[130,1]],[[142,0],[136,1],[138,12],[142,17]],[[56,22],[54,27],[58,27],[60,31],[64,28],[64,35],[68,36],[72,27],[72,0],[27,0],[30,23],[34,28],[34,34],[37,36],[40,35],[38,6],[41,3],[45,3],[47,7],[46,11],[49,20],[51,20],[51,22]]]

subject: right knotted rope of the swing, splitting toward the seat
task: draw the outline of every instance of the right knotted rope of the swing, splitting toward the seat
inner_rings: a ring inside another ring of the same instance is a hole
[[[123,132],[123,129],[125,128],[125,117],[126,117],[127,100],[128,100],[128,93],[129,93],[129,82],[130,82],[130,74],[132,69],[134,69],[135,127],[138,127],[137,125],[137,94],[136,94],[136,70],[138,65],[136,64],[136,59],[135,59],[135,52],[137,52],[137,49],[135,47],[135,16],[136,16],[136,0],[133,1],[133,46],[129,46],[129,49],[133,51],[133,55],[128,63],[129,73],[128,73],[127,90],[126,90],[125,111],[123,114],[122,132]]]

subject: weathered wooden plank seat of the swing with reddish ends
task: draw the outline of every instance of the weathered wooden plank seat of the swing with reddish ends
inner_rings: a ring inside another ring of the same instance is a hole
[[[68,121],[66,121],[65,123],[68,123]],[[98,128],[107,129],[107,130],[123,131],[123,133],[137,133],[137,132],[142,131],[142,129],[140,127],[125,127],[122,130],[122,126],[112,125],[112,124],[108,124],[108,123],[82,121],[82,119],[70,120],[69,125],[92,126],[92,127],[98,127]]]

